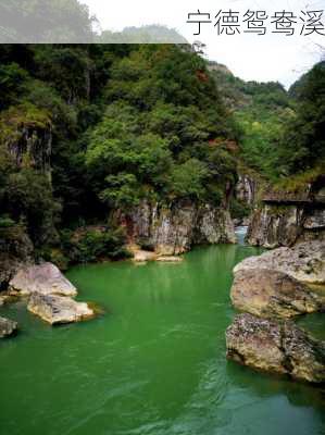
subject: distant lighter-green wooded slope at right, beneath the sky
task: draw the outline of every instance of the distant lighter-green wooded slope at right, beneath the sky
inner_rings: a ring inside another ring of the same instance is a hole
[[[243,82],[216,63],[210,69],[241,128],[243,164],[293,188],[324,173],[325,62],[288,92],[279,83]]]

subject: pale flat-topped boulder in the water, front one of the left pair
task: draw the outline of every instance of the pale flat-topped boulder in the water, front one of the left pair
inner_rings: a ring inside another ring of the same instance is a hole
[[[51,325],[79,322],[95,315],[86,302],[72,298],[34,293],[28,301],[28,311],[38,315]]]

